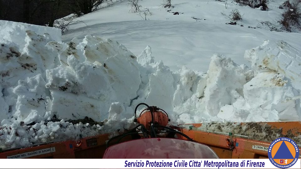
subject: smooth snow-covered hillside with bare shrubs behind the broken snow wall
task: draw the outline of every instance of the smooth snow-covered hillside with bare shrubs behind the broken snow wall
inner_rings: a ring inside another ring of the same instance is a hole
[[[62,40],[82,39],[87,34],[112,38],[135,55],[149,45],[153,56],[172,70],[185,65],[206,72],[210,57],[215,53],[230,57],[237,64],[250,66],[242,57],[245,50],[261,45],[264,40],[284,40],[301,50],[300,33],[270,31],[269,27],[281,29],[277,21],[281,19],[283,9],[278,7],[283,2],[270,1],[269,10],[261,11],[232,1],[227,2],[225,9],[224,2],[214,0],[172,0],[174,8],[162,8],[163,0],[142,0],[140,5],[152,12],[147,16],[150,20],[145,21],[139,13],[129,12],[131,6],[127,0],[122,0],[82,16],[80,20],[85,23],[71,25]],[[237,25],[225,24],[231,22],[229,15],[233,9],[240,11],[242,20],[236,21]],[[179,12],[179,15],[172,12]]]

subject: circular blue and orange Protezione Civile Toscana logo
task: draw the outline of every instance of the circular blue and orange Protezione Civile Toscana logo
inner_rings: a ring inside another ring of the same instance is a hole
[[[297,162],[299,148],[292,139],[280,137],[270,144],[267,154],[274,166],[278,168],[288,168]]]

